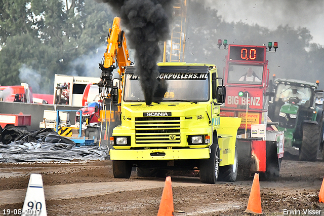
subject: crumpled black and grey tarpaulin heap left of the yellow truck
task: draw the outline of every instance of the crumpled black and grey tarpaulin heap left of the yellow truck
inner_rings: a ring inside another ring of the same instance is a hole
[[[49,128],[34,132],[17,128],[6,130],[5,128],[0,134],[0,162],[67,162],[73,159],[104,160],[108,158],[106,147],[75,147],[73,141]]]

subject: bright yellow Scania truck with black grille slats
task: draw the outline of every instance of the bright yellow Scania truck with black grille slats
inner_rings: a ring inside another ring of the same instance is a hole
[[[153,100],[147,105],[135,66],[124,74],[121,125],[110,137],[115,178],[166,170],[199,170],[200,181],[233,182],[237,176],[236,135],[240,118],[220,117],[226,98],[223,80],[213,64],[158,63]]]

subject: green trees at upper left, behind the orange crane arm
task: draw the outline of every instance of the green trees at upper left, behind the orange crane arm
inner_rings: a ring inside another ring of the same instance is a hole
[[[0,0],[1,13],[0,84],[27,82],[19,76],[24,65],[42,76],[34,92],[49,94],[54,74],[68,74],[73,60],[105,44],[114,17],[93,0]]]

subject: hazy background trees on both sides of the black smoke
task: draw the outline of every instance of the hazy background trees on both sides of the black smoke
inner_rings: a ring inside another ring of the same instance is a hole
[[[52,94],[55,74],[99,77],[98,63],[116,15],[107,4],[94,0],[0,1],[0,84],[20,85],[29,78],[39,80],[35,93]],[[218,39],[242,45],[276,41],[276,53],[267,53],[271,74],[324,82],[324,48],[310,43],[312,35],[307,28],[286,25],[269,30],[243,22],[228,23],[216,9],[191,1],[185,61],[215,63],[222,71],[227,50],[218,49]]]

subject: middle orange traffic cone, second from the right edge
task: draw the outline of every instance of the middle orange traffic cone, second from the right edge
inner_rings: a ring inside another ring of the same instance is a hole
[[[260,196],[260,183],[259,183],[259,173],[254,174],[252,188],[250,192],[247,213],[262,213],[261,209],[261,196]]]

